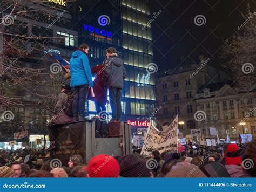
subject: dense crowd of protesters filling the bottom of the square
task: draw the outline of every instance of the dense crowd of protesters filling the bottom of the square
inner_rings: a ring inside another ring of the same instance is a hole
[[[0,152],[0,177],[256,177],[256,140],[237,145],[184,146],[179,153],[141,149],[125,156],[97,155],[87,164],[72,155],[62,167],[51,163],[44,150],[19,149]],[[24,158],[30,154],[29,159]],[[25,162],[24,162],[25,161]]]

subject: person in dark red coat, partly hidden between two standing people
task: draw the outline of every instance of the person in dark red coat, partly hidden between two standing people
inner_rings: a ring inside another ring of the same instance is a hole
[[[107,101],[107,89],[104,87],[104,84],[102,81],[104,70],[105,70],[104,64],[97,65],[91,68],[91,73],[95,74],[96,76],[93,82],[93,92],[95,94],[95,97],[92,97],[91,92],[89,92],[88,99],[90,99],[91,101],[94,101],[98,116],[100,112],[106,111],[106,103],[109,102]],[[103,118],[105,118],[105,116],[103,116]]]

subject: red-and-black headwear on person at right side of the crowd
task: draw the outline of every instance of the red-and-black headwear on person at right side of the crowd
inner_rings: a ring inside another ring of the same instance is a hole
[[[226,154],[226,164],[237,164],[240,165],[242,162],[242,158],[240,153],[238,152],[239,148],[237,144],[231,143],[227,146],[227,154]]]

